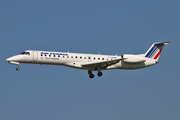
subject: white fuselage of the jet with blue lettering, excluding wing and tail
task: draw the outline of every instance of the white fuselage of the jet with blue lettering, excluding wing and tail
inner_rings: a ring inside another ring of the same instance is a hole
[[[100,54],[79,54],[69,52],[50,52],[50,51],[35,51],[27,50],[28,54],[19,54],[7,59],[12,64],[30,63],[30,64],[46,64],[46,65],[64,65],[72,68],[84,70],[96,70],[94,67],[83,67],[86,64],[98,64],[105,61],[113,61],[121,58],[127,60],[119,61],[116,64],[110,65],[105,69],[140,69],[156,64],[154,59],[145,58],[143,55],[100,55]],[[135,61],[135,62],[133,62]],[[139,61],[139,62],[137,62]]]

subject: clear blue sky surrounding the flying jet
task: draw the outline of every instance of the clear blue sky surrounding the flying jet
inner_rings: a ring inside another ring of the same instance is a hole
[[[178,0],[4,0],[0,4],[0,119],[179,120]],[[140,70],[87,71],[8,64],[24,50],[122,55],[164,47]]]

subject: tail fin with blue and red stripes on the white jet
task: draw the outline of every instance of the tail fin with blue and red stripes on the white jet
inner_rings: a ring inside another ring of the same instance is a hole
[[[162,43],[153,43],[151,47],[148,49],[148,51],[145,53],[145,57],[158,60],[164,45],[167,45],[168,43],[171,43],[171,42],[172,41],[162,42]]]

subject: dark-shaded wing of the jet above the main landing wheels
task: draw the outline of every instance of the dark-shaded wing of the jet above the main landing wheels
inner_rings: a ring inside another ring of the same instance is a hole
[[[110,60],[110,61],[104,61],[104,62],[96,62],[96,63],[90,63],[90,64],[83,64],[81,65],[83,68],[96,68],[101,67],[101,69],[106,69],[108,66],[114,65],[118,63],[121,60],[125,60],[126,58],[116,59],[116,60]]]

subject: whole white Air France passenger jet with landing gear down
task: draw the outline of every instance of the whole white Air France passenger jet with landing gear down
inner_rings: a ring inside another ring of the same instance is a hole
[[[153,43],[145,54],[123,54],[117,55],[101,55],[101,54],[83,54],[70,52],[51,52],[26,50],[19,55],[12,56],[6,61],[10,64],[17,65],[16,70],[19,71],[20,63],[29,64],[45,64],[45,65],[63,65],[71,68],[87,70],[89,77],[94,78],[92,71],[97,71],[100,77],[103,75],[102,70],[110,69],[141,69],[155,65],[164,45],[172,41]]]

